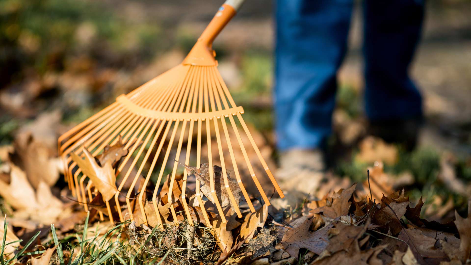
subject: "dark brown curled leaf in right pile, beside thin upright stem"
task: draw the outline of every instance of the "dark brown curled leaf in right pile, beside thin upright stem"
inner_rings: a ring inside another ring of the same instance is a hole
[[[390,231],[392,235],[397,235],[403,229],[398,218],[406,213],[409,205],[408,198],[404,197],[404,191],[392,193],[390,196],[381,199],[381,208],[374,212],[372,223],[379,225],[378,230],[383,233]]]

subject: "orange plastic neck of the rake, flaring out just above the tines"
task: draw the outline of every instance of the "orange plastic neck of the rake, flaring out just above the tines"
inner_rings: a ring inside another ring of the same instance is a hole
[[[212,50],[212,42],[231,18],[235,16],[235,13],[236,9],[232,5],[227,3],[223,4],[198,38],[195,46],[193,46],[191,51],[188,53],[187,58],[183,60],[183,64],[194,66],[217,66],[218,61],[214,59],[216,53]]]

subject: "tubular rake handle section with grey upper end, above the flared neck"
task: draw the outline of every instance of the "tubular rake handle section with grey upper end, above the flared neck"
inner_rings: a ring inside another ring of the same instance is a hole
[[[226,0],[201,34],[199,41],[203,41],[208,47],[211,47],[214,39],[219,35],[231,18],[235,16],[237,10],[239,10],[244,1],[245,0]]]

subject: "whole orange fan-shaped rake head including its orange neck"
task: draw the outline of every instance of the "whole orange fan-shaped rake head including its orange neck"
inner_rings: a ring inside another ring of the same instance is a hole
[[[283,198],[283,192],[268,169],[244,122],[242,117],[244,109],[237,106],[232,99],[219,74],[218,63],[211,50],[212,41],[235,15],[235,8],[240,6],[240,2],[229,0],[219,8],[216,16],[180,65],[155,77],[136,90],[119,96],[116,102],[59,138],[59,153],[67,169],[65,179],[73,196],[84,204],[85,210],[88,210],[87,204],[95,199],[98,191],[106,204],[107,215],[111,222],[118,221],[114,220],[112,207],[114,207],[114,212],[118,213],[121,222],[128,218],[133,220],[133,213],[137,208],[140,213],[145,213],[148,207],[153,207],[156,213],[161,212],[159,206],[162,196],[159,195],[159,189],[162,188],[160,185],[162,177],[168,174],[166,171],[168,163],[173,164],[173,168],[169,175],[169,194],[166,200],[170,202],[170,212],[175,222],[177,217],[171,202],[178,198],[174,198],[173,186],[177,182],[175,180],[177,171],[182,169],[184,173],[181,203],[190,224],[193,224],[193,221],[185,199],[188,173],[197,175],[198,172],[206,170],[209,177],[203,181],[210,184],[209,192],[212,195],[210,197],[213,198],[223,223],[226,222],[226,218],[222,202],[216,194],[218,189],[219,192],[222,190],[227,194],[230,205],[239,217],[242,215],[237,199],[239,194],[234,194],[234,192],[238,193],[238,190],[234,190],[236,185],[240,188],[252,212],[255,209],[245,185],[255,184],[262,199],[269,205],[259,177],[268,177],[277,193]],[[241,136],[248,138],[250,145],[245,146]],[[212,145],[218,147],[219,159],[214,159],[217,156],[213,156],[211,152]],[[126,150],[126,153],[121,154],[123,159],[115,161],[115,175],[108,178],[112,181],[105,183],[105,188],[101,188],[104,183],[93,183],[97,182],[96,178],[91,176],[86,166],[81,165],[81,160],[73,159],[73,157],[99,157],[104,149],[110,148],[109,146],[111,148],[119,146],[121,150]],[[207,150],[203,150],[206,148]],[[243,154],[244,163],[236,162],[235,149]],[[267,176],[255,175],[254,165],[252,165],[254,160],[248,156],[248,149],[255,151],[256,161],[265,169]],[[184,160],[181,159],[182,157]],[[206,169],[200,168],[202,163],[207,163],[203,165]],[[220,166],[219,173],[211,170],[216,165]],[[228,176],[227,169],[233,170],[235,180]],[[253,183],[243,183],[241,171],[250,172]],[[217,182],[215,174],[222,174],[222,177],[219,175],[219,180],[222,179],[224,185],[221,185],[221,181]],[[151,181],[151,179],[155,180],[155,177],[156,181]],[[114,182],[115,179],[119,183],[118,186]],[[211,224],[200,192],[200,181],[201,179],[196,176],[196,199],[201,207],[205,224]],[[155,188],[149,191],[149,187],[154,183]],[[127,187],[124,188],[124,186]],[[106,195],[103,189],[106,189]],[[123,196],[126,189],[127,193]],[[125,197],[125,206],[122,200],[120,201],[120,196]],[[103,213],[99,212],[99,214],[103,219]],[[143,214],[143,219],[144,223],[147,223],[146,214]],[[165,223],[159,214],[157,219],[158,224]]]

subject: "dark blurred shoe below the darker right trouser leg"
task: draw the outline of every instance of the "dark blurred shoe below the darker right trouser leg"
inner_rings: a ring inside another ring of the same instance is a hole
[[[370,121],[368,132],[388,143],[402,145],[406,151],[411,151],[417,145],[422,124],[422,117],[406,120]]]

